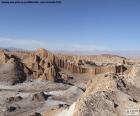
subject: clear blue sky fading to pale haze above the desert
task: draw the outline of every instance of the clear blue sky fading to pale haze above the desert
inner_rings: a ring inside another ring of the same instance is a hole
[[[0,47],[140,50],[139,0],[0,4]]]

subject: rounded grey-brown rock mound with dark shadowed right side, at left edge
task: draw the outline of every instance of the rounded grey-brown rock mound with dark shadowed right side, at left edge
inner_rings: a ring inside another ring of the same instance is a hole
[[[12,85],[22,83],[30,74],[17,56],[0,51],[0,82]]]

